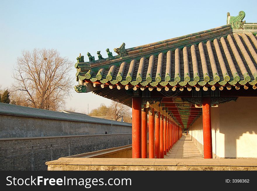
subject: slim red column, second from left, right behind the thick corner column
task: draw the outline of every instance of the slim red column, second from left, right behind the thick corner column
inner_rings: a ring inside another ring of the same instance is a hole
[[[142,113],[142,158],[147,158],[147,108]]]

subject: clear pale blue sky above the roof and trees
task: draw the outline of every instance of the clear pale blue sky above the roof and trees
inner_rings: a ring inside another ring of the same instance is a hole
[[[257,1],[0,1],[0,85],[12,89],[12,70],[22,50],[56,49],[74,64],[87,52],[105,58],[106,48],[125,48],[166,40],[226,24],[227,12],[246,13],[257,22]],[[77,85],[76,69],[70,71]],[[72,89],[65,107],[91,111],[111,100]]]

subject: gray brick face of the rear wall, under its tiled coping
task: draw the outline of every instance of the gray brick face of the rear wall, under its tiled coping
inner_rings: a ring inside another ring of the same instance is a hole
[[[105,131],[108,134],[132,133],[132,125],[111,126],[111,124],[0,115],[0,138],[105,134]]]

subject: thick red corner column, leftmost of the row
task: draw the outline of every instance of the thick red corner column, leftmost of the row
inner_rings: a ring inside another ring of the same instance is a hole
[[[141,98],[132,97],[132,158],[141,154]]]

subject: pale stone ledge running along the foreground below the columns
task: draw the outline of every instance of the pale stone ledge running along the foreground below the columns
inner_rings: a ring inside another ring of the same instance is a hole
[[[48,161],[46,165],[57,168],[57,166],[80,166],[79,168],[86,168],[83,166],[113,166],[118,169],[121,166],[141,166],[140,168],[150,168],[147,166],[160,168],[171,167],[257,167],[256,158],[244,159],[132,159],[132,158],[59,158],[58,160]],[[66,167],[65,167],[66,168]],[[93,167],[91,167],[93,168]],[[127,168],[127,167],[124,167]]]

